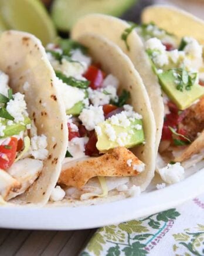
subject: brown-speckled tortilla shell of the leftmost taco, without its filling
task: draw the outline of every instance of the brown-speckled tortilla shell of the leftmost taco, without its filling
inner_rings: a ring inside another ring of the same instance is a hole
[[[56,185],[67,148],[66,115],[55,88],[55,72],[39,39],[18,31],[1,34],[0,69],[9,75],[13,92],[25,94],[29,116],[38,134],[46,135],[49,151],[40,177],[16,202],[45,204]],[[29,91],[23,90],[25,82],[30,85]]]

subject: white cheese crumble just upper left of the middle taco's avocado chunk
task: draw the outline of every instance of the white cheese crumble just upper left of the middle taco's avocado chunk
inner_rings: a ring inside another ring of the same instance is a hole
[[[94,127],[104,121],[103,107],[94,107],[90,105],[89,108],[84,108],[79,115],[79,119],[88,131],[94,129]]]

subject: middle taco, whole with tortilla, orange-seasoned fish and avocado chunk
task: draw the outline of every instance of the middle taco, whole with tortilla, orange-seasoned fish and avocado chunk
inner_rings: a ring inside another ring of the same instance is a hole
[[[154,177],[156,129],[147,91],[130,59],[93,34],[60,39],[46,51],[69,130],[50,201],[140,194]]]

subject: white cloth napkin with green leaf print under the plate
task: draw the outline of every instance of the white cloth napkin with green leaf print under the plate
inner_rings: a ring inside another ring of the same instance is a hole
[[[80,255],[203,256],[204,194],[176,208],[99,228]]]

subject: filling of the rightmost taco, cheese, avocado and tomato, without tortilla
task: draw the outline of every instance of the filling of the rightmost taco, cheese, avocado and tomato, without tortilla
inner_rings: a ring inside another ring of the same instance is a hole
[[[167,173],[174,168],[175,162],[183,162],[185,166],[184,161],[195,154],[198,161],[202,159],[203,46],[189,36],[179,41],[175,35],[152,23],[137,25],[135,29],[144,41],[145,51],[162,88],[165,116],[159,153],[165,162],[171,161],[167,167],[161,169],[162,173]],[[177,163],[176,167],[180,168],[181,165]],[[166,182],[174,182],[171,178],[165,178],[165,175],[162,178]]]

